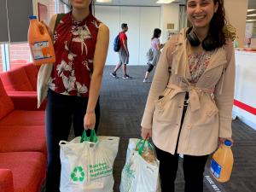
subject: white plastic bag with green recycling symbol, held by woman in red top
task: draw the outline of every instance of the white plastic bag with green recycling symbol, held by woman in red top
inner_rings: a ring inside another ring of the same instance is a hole
[[[113,161],[119,137],[76,137],[61,141],[61,192],[113,192]]]

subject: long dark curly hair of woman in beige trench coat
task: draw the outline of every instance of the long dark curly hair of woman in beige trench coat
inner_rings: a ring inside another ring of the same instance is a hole
[[[212,16],[208,36],[214,41],[215,47],[219,48],[226,43],[227,39],[234,40],[236,38],[236,30],[226,20],[224,0],[213,0],[213,3],[218,3],[218,9]]]

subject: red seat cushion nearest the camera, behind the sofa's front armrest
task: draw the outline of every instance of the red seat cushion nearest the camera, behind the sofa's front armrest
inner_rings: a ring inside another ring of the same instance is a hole
[[[0,153],[0,169],[13,172],[15,192],[38,192],[44,182],[46,160],[40,152]]]

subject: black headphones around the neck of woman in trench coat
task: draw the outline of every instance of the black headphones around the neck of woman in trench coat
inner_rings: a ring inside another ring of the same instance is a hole
[[[192,47],[197,47],[201,44],[202,48],[205,50],[213,50],[218,47],[218,42],[214,40],[214,38],[211,36],[211,34],[207,35],[207,38],[205,38],[202,42],[197,38],[195,32],[192,32],[193,27],[189,27],[187,31],[187,39],[189,40],[189,44],[191,44]]]

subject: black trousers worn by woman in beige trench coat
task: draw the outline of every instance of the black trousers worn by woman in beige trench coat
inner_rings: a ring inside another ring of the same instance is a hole
[[[181,127],[183,119],[187,111],[187,102],[189,94],[185,96],[183,116],[181,119]],[[180,128],[181,129],[181,128]],[[181,131],[181,130],[180,130]],[[180,134],[179,131],[179,134]],[[177,144],[179,139],[177,138]],[[203,147],[203,146],[202,146]],[[170,154],[160,148],[155,147],[156,155],[160,160],[160,181],[162,192],[175,191],[175,179],[177,175],[177,166],[179,154],[177,154],[177,145],[175,154]],[[203,172],[207,163],[208,155],[204,156],[191,156],[183,155],[183,175],[185,180],[185,192],[203,192]]]

